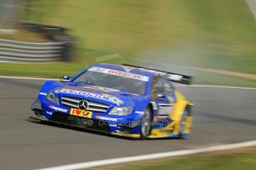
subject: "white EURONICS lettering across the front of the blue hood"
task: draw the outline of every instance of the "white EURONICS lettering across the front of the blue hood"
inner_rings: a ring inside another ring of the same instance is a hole
[[[118,106],[119,104],[122,104],[123,101],[120,100],[119,98],[116,98],[113,95],[108,95],[108,94],[96,94],[93,92],[84,92],[84,91],[79,91],[79,90],[75,90],[75,89],[58,89],[55,91],[56,93],[68,93],[68,94],[73,94],[73,95],[82,95],[85,97],[89,97],[89,98],[96,98],[96,99],[100,99],[102,101],[109,101],[111,103],[116,103]]]

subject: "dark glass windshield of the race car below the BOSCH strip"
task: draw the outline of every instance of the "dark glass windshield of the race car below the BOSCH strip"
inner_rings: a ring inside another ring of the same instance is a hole
[[[138,75],[140,76],[140,75]],[[73,80],[76,83],[103,86],[111,89],[118,89],[138,95],[145,95],[147,81],[129,78],[120,75],[112,75],[105,72],[87,71]]]

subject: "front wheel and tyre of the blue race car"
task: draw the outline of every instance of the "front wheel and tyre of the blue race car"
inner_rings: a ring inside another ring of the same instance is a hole
[[[151,133],[151,109],[148,107],[145,110],[145,114],[141,120],[140,125],[140,138],[143,140],[147,138]]]

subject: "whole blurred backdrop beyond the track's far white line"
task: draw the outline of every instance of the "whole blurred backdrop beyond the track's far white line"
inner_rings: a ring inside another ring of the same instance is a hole
[[[0,75],[59,78],[128,63],[194,75],[195,84],[256,86],[255,4],[1,0]]]

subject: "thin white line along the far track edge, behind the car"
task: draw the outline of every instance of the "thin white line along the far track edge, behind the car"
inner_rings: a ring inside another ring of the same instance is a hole
[[[38,81],[59,81],[59,79],[56,79],[56,78],[28,78],[28,77],[2,76],[2,75],[0,75],[0,78],[27,79],[27,80],[38,80]],[[243,86],[220,86],[220,85],[203,85],[203,84],[194,84],[194,85],[175,84],[175,86],[215,87],[215,88],[227,88],[227,89],[256,89],[252,87],[243,87]]]

